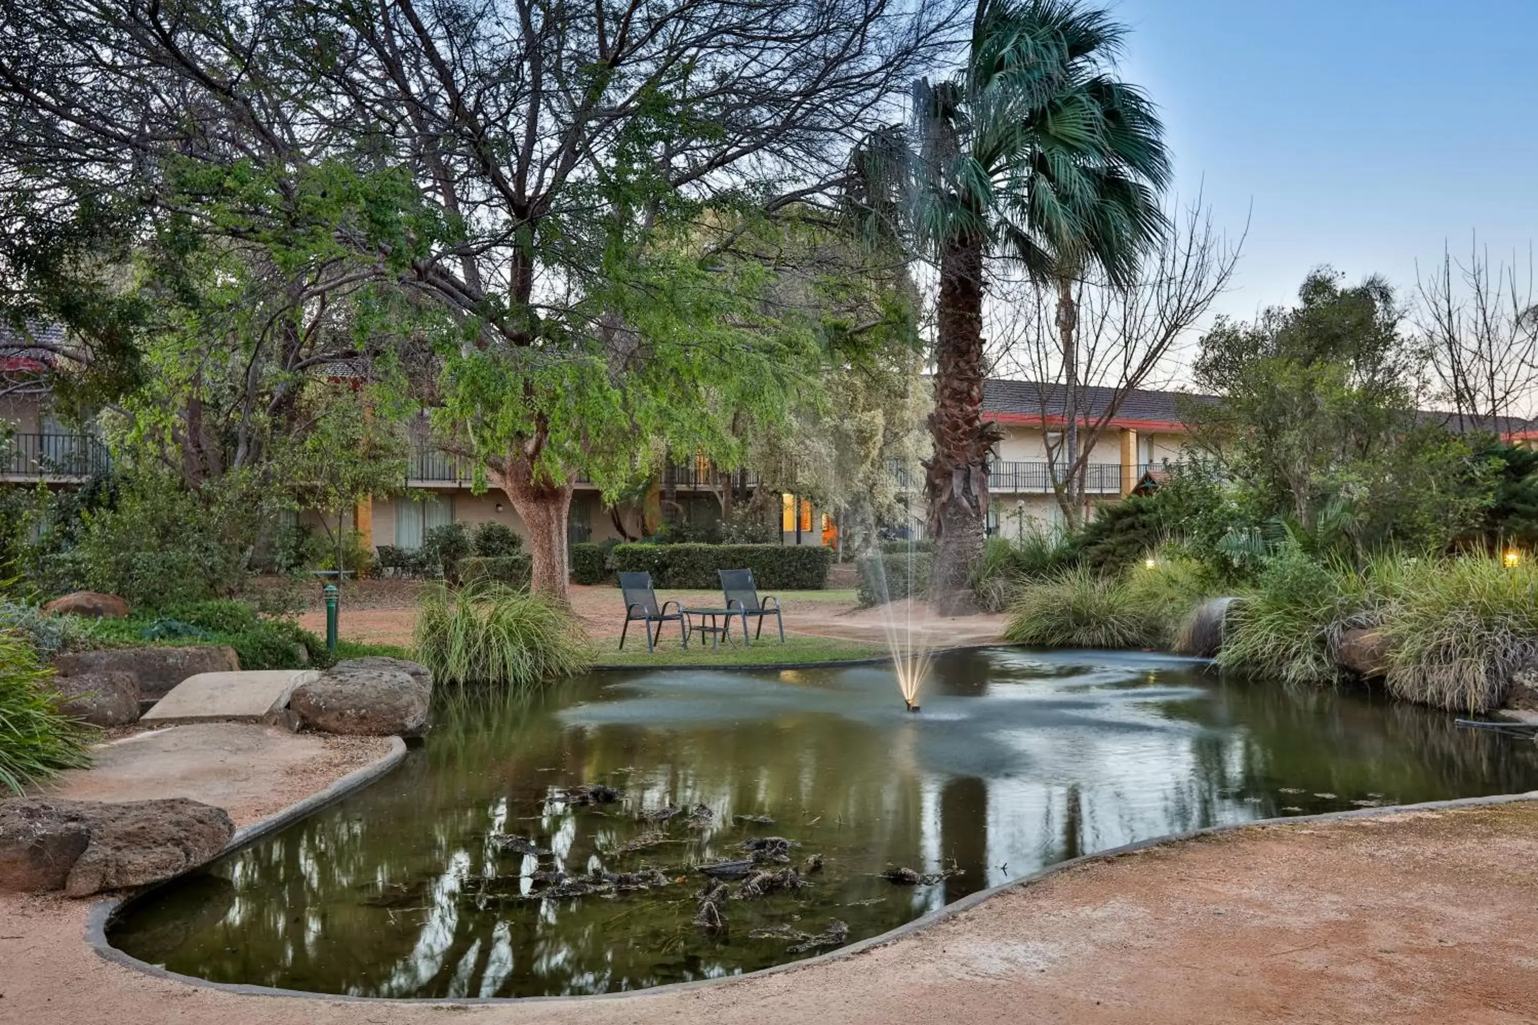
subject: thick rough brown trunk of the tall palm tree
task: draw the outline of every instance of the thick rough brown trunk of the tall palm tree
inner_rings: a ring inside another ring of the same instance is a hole
[[[997,424],[983,423],[983,240],[952,243],[940,257],[935,410],[929,433],[929,533],[935,541],[930,599],[941,612],[969,607],[972,572],[987,521],[987,453]]]

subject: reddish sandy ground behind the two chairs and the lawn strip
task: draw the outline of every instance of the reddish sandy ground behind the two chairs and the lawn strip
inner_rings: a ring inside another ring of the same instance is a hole
[[[372,644],[411,644],[417,625],[415,595],[418,585],[409,581],[361,581],[357,604],[343,602],[338,619],[346,641]],[[883,609],[860,609],[846,593],[829,592],[829,598],[806,593],[786,599],[786,633],[844,638],[847,641],[883,642],[892,632],[917,633],[930,647],[995,644],[1006,616],[935,616],[923,602],[897,602]],[[720,604],[718,592],[667,592],[661,598],[680,598],[684,604]],[[572,585],[572,609],[581,618],[589,636],[617,638],[624,625],[624,599],[617,587]],[[326,629],[325,612],[309,610],[300,616],[306,630]]]

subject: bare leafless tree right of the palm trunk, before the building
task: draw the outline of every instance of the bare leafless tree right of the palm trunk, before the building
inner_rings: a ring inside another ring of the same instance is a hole
[[[1247,226],[1246,226],[1247,232]],[[1180,217],[1134,281],[1074,286],[1078,312],[1064,358],[1058,284],[1000,278],[992,297],[995,372],[1035,387],[1035,416],[1047,453],[1047,479],[1064,519],[1081,526],[1095,446],[1135,389],[1167,384],[1187,332],[1227,290],[1244,234],[1230,241],[1198,201]]]

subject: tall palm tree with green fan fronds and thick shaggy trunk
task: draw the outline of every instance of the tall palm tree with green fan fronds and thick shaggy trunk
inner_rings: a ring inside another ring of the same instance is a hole
[[[867,229],[900,234],[938,264],[934,455],[926,466],[932,590],[966,595],[987,516],[983,290],[990,257],[1057,284],[1077,447],[1074,283],[1126,284],[1161,237],[1170,177],[1163,126],[1110,75],[1126,29],[1072,0],[980,0],[966,68],[914,86],[914,123],[867,138],[849,203]],[[1072,456],[1070,456],[1072,458]]]

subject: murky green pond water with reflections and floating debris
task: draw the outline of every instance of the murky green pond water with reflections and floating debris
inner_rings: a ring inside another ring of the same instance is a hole
[[[817,953],[755,931],[838,921],[854,942],[1138,839],[1538,788],[1538,745],[1450,715],[1132,653],[949,653],[920,715],[887,667],[866,665],[598,673],[531,699],[454,696],[435,716],[391,776],[146,894],[111,942],[178,973],[320,993],[638,990]],[[624,796],[560,799],[580,784]],[[638,819],[701,804],[707,824]],[[660,842],[618,850],[644,833]],[[797,844],[797,868],[821,854],[821,871],[724,899],[724,930],[694,925],[697,865],[744,859],[757,836]],[[897,885],[880,876],[894,865],[955,874]],[[551,897],[531,879],[594,868],[667,882]]]

